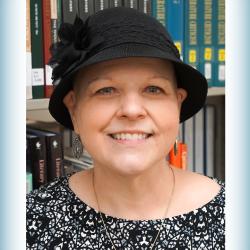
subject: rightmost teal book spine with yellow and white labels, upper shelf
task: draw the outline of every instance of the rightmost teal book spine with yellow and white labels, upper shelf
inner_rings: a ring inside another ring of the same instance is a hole
[[[214,0],[215,1],[215,0]],[[225,0],[215,1],[216,9],[216,60],[215,86],[225,86]]]

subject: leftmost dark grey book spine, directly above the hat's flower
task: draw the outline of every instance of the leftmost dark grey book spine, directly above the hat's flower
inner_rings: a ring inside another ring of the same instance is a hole
[[[62,0],[62,19],[73,24],[78,14],[78,0]]]

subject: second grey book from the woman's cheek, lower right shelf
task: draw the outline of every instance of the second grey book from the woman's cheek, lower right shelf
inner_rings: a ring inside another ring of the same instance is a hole
[[[195,172],[205,174],[204,108],[194,116],[194,138]]]

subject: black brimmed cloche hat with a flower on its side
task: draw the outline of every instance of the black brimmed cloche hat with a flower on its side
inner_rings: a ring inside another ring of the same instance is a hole
[[[101,10],[83,22],[61,25],[60,42],[51,47],[52,79],[55,89],[49,102],[51,115],[63,126],[73,129],[63,98],[72,89],[79,69],[87,65],[125,57],[153,57],[174,64],[178,87],[187,90],[180,122],[197,113],[207,96],[207,81],[193,67],[180,59],[166,28],[155,18],[132,8]]]

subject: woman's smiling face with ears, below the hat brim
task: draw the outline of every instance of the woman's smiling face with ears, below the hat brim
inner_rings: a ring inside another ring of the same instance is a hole
[[[76,82],[64,103],[94,165],[128,175],[165,161],[186,97],[170,63],[116,59],[82,70]]]

